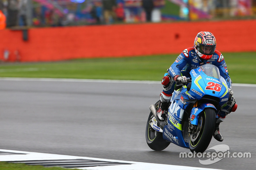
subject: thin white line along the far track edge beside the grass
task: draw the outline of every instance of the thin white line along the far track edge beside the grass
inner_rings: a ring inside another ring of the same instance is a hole
[[[52,81],[52,82],[91,82],[91,83],[135,83],[160,84],[161,81],[147,80],[105,80],[105,79],[79,79],[79,78],[0,78],[0,81]],[[256,84],[233,83],[232,86],[256,87]]]

